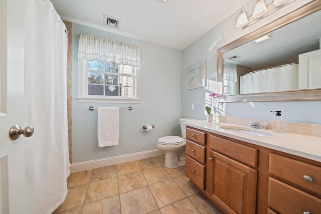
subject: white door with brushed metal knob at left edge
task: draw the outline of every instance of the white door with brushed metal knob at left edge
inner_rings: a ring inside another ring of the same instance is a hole
[[[0,0],[0,46],[0,213],[25,213],[25,137],[9,138],[26,126],[23,0]]]

